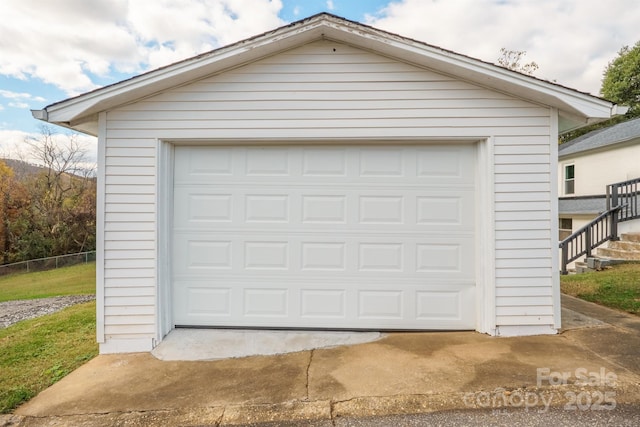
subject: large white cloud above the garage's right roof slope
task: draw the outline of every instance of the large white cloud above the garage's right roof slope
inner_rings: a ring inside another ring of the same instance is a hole
[[[537,77],[593,94],[607,63],[640,38],[640,8],[626,0],[401,0],[366,22],[488,62],[502,47],[523,50]]]

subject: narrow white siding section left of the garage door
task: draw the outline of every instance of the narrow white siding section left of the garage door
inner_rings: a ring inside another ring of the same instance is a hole
[[[154,141],[107,138],[105,176],[105,339],[153,338],[156,333]]]

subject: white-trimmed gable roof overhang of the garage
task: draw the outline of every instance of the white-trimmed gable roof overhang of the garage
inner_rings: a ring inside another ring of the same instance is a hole
[[[45,107],[33,117],[96,135],[98,113],[238,67],[258,59],[327,39],[448,74],[477,85],[557,108],[561,132],[624,113],[624,107],[574,89],[320,13],[273,31],[162,67]]]

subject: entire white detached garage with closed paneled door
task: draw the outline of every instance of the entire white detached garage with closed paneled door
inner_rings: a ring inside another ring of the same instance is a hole
[[[600,98],[320,14],[36,118],[98,136],[100,351],[177,326],[556,333]]]

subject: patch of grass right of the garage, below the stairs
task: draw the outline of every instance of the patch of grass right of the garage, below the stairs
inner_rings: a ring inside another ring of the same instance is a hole
[[[560,276],[560,289],[568,295],[640,315],[640,264]]]

